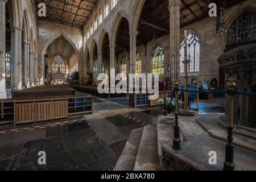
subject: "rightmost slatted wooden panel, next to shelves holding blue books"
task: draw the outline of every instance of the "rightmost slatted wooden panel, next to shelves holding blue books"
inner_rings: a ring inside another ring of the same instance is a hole
[[[52,119],[60,119],[68,117],[68,101],[53,101],[52,103]]]

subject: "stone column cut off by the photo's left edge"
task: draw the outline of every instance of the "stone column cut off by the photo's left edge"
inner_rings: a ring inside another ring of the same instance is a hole
[[[6,34],[6,23],[5,23],[5,7],[6,0],[0,1],[0,98],[6,98],[5,90],[5,34]]]

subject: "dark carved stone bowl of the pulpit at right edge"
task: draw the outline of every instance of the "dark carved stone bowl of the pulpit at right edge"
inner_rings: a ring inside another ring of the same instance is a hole
[[[234,48],[223,53],[218,64],[229,77],[238,82],[240,91],[252,92],[256,81],[256,44]]]

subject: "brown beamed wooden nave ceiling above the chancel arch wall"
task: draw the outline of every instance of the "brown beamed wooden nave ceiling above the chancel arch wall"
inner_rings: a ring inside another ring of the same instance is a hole
[[[82,28],[98,0],[36,0],[46,3],[47,16],[39,19]]]

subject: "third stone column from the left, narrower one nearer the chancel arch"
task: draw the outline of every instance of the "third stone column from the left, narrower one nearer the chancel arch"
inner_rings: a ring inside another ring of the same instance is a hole
[[[24,50],[23,50],[23,75],[24,76],[24,86],[30,88],[30,77],[29,77],[29,67],[30,67],[30,45],[24,42]]]

